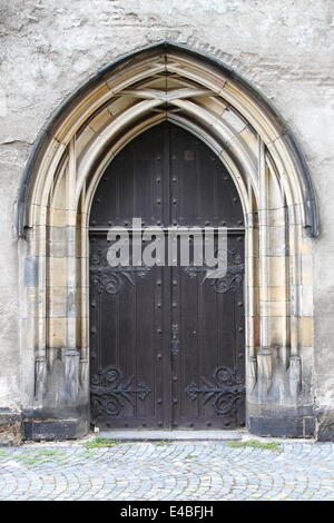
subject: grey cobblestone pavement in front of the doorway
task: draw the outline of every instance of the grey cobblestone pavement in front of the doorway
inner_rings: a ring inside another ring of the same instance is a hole
[[[0,450],[4,500],[334,500],[334,445],[136,442]]]

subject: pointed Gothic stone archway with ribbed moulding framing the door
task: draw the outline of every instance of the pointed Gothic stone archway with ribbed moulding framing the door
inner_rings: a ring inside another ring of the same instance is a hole
[[[163,120],[228,169],[246,223],[247,426],[313,434],[316,209],[293,137],[220,62],[165,42],[99,71],[39,137],[21,186],[26,437],[76,437],[88,413],[88,218],[105,168]],[[33,379],[32,379],[33,376]]]

